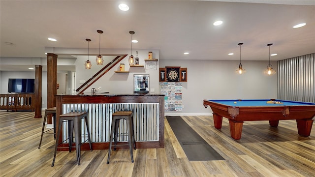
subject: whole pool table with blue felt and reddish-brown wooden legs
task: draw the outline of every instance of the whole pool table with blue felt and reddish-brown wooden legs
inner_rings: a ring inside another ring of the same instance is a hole
[[[267,103],[268,102],[268,103]],[[205,108],[213,111],[214,125],[222,127],[222,117],[229,119],[231,137],[241,139],[244,121],[269,120],[277,127],[279,120],[296,119],[298,133],[310,136],[315,117],[315,103],[277,99],[203,100]]]

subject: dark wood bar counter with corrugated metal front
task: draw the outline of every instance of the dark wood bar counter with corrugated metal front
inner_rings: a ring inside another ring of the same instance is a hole
[[[137,148],[164,148],[164,95],[163,94],[95,94],[95,95],[56,95],[56,125],[59,115],[69,112],[88,113],[93,149],[108,149],[112,113],[132,111]],[[123,121],[123,120],[121,120]],[[82,124],[84,121],[82,121]],[[68,147],[67,123],[63,123],[59,147]],[[87,132],[82,126],[82,136]],[[126,124],[121,122],[119,132],[126,133]],[[84,135],[85,134],[85,135]],[[84,142],[85,138],[82,138]],[[127,138],[119,137],[119,144]],[[128,148],[118,147],[118,148]],[[83,143],[82,150],[89,150]],[[60,150],[60,149],[59,149]],[[62,150],[68,150],[62,148]]]

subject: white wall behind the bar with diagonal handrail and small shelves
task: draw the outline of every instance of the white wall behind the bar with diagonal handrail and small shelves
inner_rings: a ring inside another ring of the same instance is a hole
[[[99,92],[110,92],[112,94],[133,94],[133,75],[134,74],[149,74],[150,75],[150,93],[158,93],[158,67],[157,70],[146,70],[144,59],[148,59],[149,50],[133,50],[133,55],[138,51],[139,64],[144,65],[143,67],[130,67],[128,64],[128,57],[123,59],[120,63],[125,64],[125,70],[129,73],[115,73],[114,71],[119,70],[119,64],[114,66],[109,72],[103,75],[98,81],[96,81],[91,87],[84,91],[85,94],[91,94],[91,88],[97,89],[101,87]],[[158,59],[158,50],[150,50],[154,53],[154,58]],[[107,52],[109,53],[109,52]],[[130,49],[126,50],[115,50],[114,54],[129,54]],[[96,65],[95,56],[90,56],[89,60],[92,62],[91,69],[85,69],[84,62],[87,60],[87,56],[78,56],[75,61],[76,68],[76,88],[79,88],[80,80],[87,81],[96,72],[98,72],[104,65]],[[104,61],[105,62],[105,61]],[[158,62],[157,62],[158,65]],[[152,89],[155,92],[152,92]]]

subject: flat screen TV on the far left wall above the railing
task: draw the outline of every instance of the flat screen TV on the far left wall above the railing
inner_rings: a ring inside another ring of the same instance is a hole
[[[9,93],[33,93],[35,79],[9,79]]]

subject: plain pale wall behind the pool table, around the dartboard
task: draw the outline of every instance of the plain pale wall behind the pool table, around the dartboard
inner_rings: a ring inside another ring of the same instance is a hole
[[[277,72],[277,62],[271,62]],[[187,67],[187,83],[183,82],[183,111],[176,115],[209,115],[204,99],[277,98],[277,74],[264,75],[268,61],[243,61],[245,74],[237,74],[238,61],[160,59],[159,66]]]

